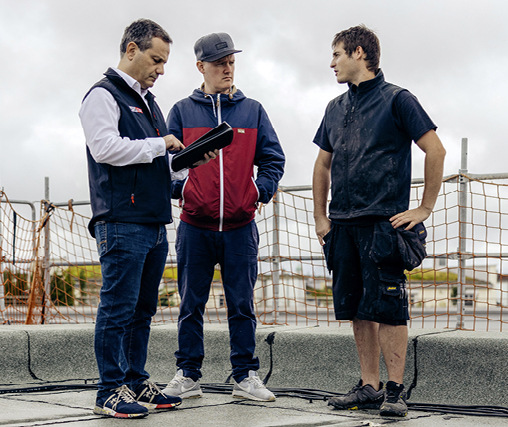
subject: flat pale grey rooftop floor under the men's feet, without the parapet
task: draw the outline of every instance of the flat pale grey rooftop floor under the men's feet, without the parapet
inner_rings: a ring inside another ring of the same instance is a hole
[[[5,388],[4,388],[5,390]],[[276,393],[278,394],[278,393]],[[506,426],[508,418],[411,410],[405,418],[383,418],[375,410],[338,411],[324,400],[277,397],[275,402],[233,399],[209,393],[186,399],[172,411],[151,412],[143,419],[120,420],[93,415],[95,391],[48,391],[0,394],[0,426]],[[508,415],[508,413],[507,413]]]

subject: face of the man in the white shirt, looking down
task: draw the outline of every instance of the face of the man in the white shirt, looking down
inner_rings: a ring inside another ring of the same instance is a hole
[[[152,47],[144,52],[135,43],[133,45],[131,49],[128,47],[126,53],[131,55],[128,74],[139,82],[142,89],[151,88],[157,77],[164,74],[164,64],[169,58],[169,43],[154,37]]]

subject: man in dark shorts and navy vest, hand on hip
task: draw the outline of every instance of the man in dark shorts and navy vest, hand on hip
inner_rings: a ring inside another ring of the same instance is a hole
[[[379,40],[371,30],[363,25],[344,30],[332,48],[330,67],[349,90],[330,101],[314,138],[319,147],[314,218],[333,271],[335,317],[353,321],[361,379],[329,405],[405,416],[409,315],[404,263],[395,242],[397,229],[409,234],[432,212],[445,150],[416,97],[384,80]],[[415,209],[409,209],[412,141],[425,153],[425,188]],[[379,381],[381,352],[388,371],[385,390]]]

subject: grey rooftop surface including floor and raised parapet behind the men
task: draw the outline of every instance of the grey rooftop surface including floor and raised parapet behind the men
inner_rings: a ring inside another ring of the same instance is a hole
[[[508,426],[506,332],[410,330],[404,382],[415,387],[409,414],[382,418],[374,410],[327,406],[327,397],[358,382],[350,328],[259,326],[260,377],[268,378],[277,396],[275,402],[260,403],[232,398],[226,384],[231,373],[227,328],[206,325],[204,397],[138,420],[92,413],[98,376],[93,332],[93,325],[0,328],[0,427]],[[147,370],[153,381],[165,384],[173,377],[176,348],[176,325],[152,328]]]

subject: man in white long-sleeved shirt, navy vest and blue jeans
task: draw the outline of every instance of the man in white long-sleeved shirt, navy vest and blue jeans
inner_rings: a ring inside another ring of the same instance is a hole
[[[168,150],[184,148],[168,135],[148,90],[164,74],[171,43],[155,22],[133,22],[122,38],[118,68],[92,87],[79,113],[93,213],[89,230],[103,279],[95,327],[99,415],[144,417],[148,409],[181,403],[148,381],[145,371],[168,252],[165,225],[172,221]]]

